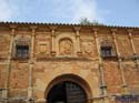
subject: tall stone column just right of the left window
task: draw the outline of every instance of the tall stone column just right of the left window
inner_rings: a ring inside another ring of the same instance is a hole
[[[30,44],[30,68],[29,68],[29,87],[28,87],[28,103],[33,101],[33,65],[34,65],[34,37],[36,28],[31,28],[31,44]]]

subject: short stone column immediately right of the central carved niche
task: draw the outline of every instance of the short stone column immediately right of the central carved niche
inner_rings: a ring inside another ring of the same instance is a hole
[[[75,31],[76,31],[76,39],[77,39],[77,54],[80,55],[81,54],[81,50],[80,50],[80,27],[75,27]]]

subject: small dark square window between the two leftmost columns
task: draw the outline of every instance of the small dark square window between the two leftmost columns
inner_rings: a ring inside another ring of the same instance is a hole
[[[16,58],[28,59],[29,58],[29,45],[16,45]]]

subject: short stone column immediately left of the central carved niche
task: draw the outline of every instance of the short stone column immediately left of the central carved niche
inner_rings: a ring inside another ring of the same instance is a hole
[[[57,27],[50,27],[51,30],[51,54],[56,55],[56,29]]]

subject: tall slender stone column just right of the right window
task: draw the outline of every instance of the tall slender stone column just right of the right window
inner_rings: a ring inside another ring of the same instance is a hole
[[[121,54],[120,54],[119,47],[118,47],[118,43],[117,43],[117,38],[116,38],[117,30],[112,29],[111,32],[112,32],[112,38],[113,38],[116,51],[117,51],[119,69],[120,69],[120,72],[121,72],[123,93],[128,93],[128,89],[127,89],[128,86],[127,86],[126,79],[125,79],[125,70],[123,70],[123,65],[122,65],[122,59],[121,59]]]

